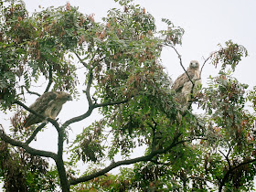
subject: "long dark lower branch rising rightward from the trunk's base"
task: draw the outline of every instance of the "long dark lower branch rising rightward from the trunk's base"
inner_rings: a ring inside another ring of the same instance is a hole
[[[172,142],[172,144],[170,144],[168,147],[166,147],[165,149],[159,149],[156,150],[154,152],[152,152],[149,155],[144,155],[141,157],[137,157],[137,158],[133,158],[133,159],[128,159],[128,160],[123,160],[123,161],[118,161],[118,162],[114,162],[111,165],[105,167],[104,169],[102,169],[101,171],[98,171],[94,174],[91,174],[90,176],[81,176],[80,178],[77,179],[72,179],[69,181],[70,185],[76,185],[79,184],[81,182],[85,182],[85,181],[89,181],[92,178],[95,178],[97,176],[102,176],[106,173],[108,173],[109,171],[111,171],[113,168],[118,167],[120,165],[131,165],[137,162],[142,162],[142,161],[151,161],[153,157],[155,157],[155,155],[161,155],[161,154],[165,154],[167,151],[169,151],[170,149],[172,149],[173,147],[175,147],[177,144],[180,144],[180,142],[177,142],[178,137],[181,135],[181,133],[178,133],[176,135],[176,137],[174,138],[174,141]]]

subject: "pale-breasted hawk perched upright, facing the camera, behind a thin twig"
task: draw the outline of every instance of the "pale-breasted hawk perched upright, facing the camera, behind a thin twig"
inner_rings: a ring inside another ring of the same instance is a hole
[[[195,83],[193,94],[196,94],[201,85],[199,63],[197,60],[190,61],[187,73],[185,72],[180,75],[172,86],[172,89],[176,91],[176,101],[183,105],[187,104],[191,98],[193,88],[193,84],[187,75]]]

